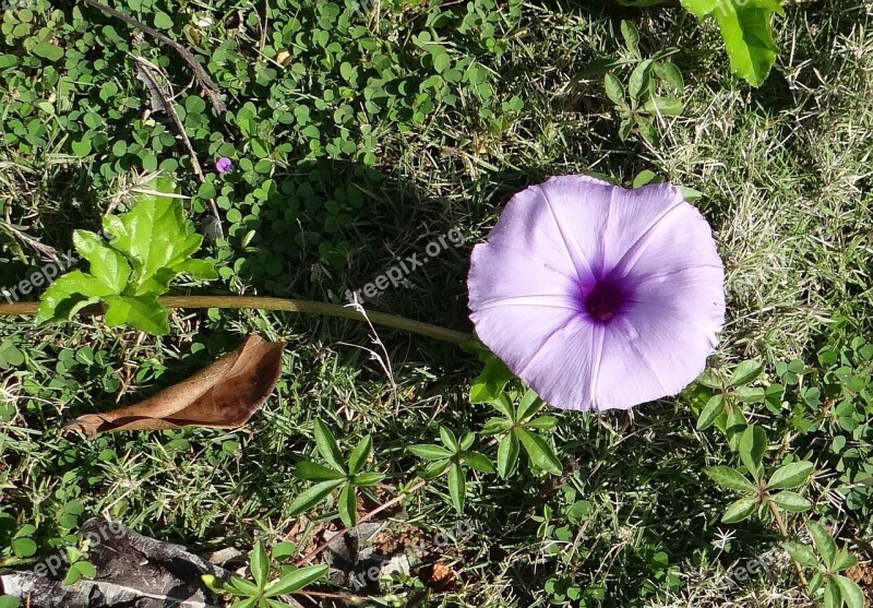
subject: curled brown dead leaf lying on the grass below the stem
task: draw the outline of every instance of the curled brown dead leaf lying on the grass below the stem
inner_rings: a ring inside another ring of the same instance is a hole
[[[107,431],[241,427],[273,392],[284,348],[284,342],[250,336],[188,380],[135,405],[80,416],[63,430],[80,430],[91,439]]]

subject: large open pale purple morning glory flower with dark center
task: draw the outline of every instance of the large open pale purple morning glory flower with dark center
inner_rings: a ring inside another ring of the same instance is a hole
[[[675,187],[553,177],[513,196],[474,248],[470,319],[547,403],[624,409],[704,370],[723,281],[709,225]]]

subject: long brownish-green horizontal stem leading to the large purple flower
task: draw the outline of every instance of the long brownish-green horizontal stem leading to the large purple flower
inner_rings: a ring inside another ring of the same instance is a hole
[[[302,312],[304,314],[325,314],[355,321],[367,321],[385,327],[404,330],[416,334],[435,337],[451,344],[462,344],[473,339],[473,335],[464,332],[446,330],[439,325],[412,321],[404,317],[387,312],[367,311],[361,313],[351,307],[310,300],[285,300],[282,298],[261,298],[249,296],[164,296],[159,298],[167,308],[223,308],[223,309],[254,309],[254,310],[282,310],[286,312]],[[0,303],[0,315],[3,314],[36,314],[37,302]],[[92,312],[92,309],[85,309]]]

